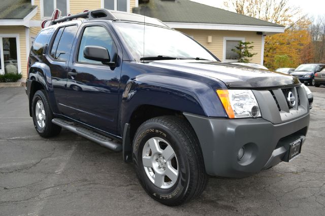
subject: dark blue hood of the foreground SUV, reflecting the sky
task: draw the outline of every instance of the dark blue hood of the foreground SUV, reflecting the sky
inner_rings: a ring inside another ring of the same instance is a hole
[[[219,80],[228,88],[261,89],[300,85],[299,80],[290,75],[218,61],[161,60],[148,64]]]

